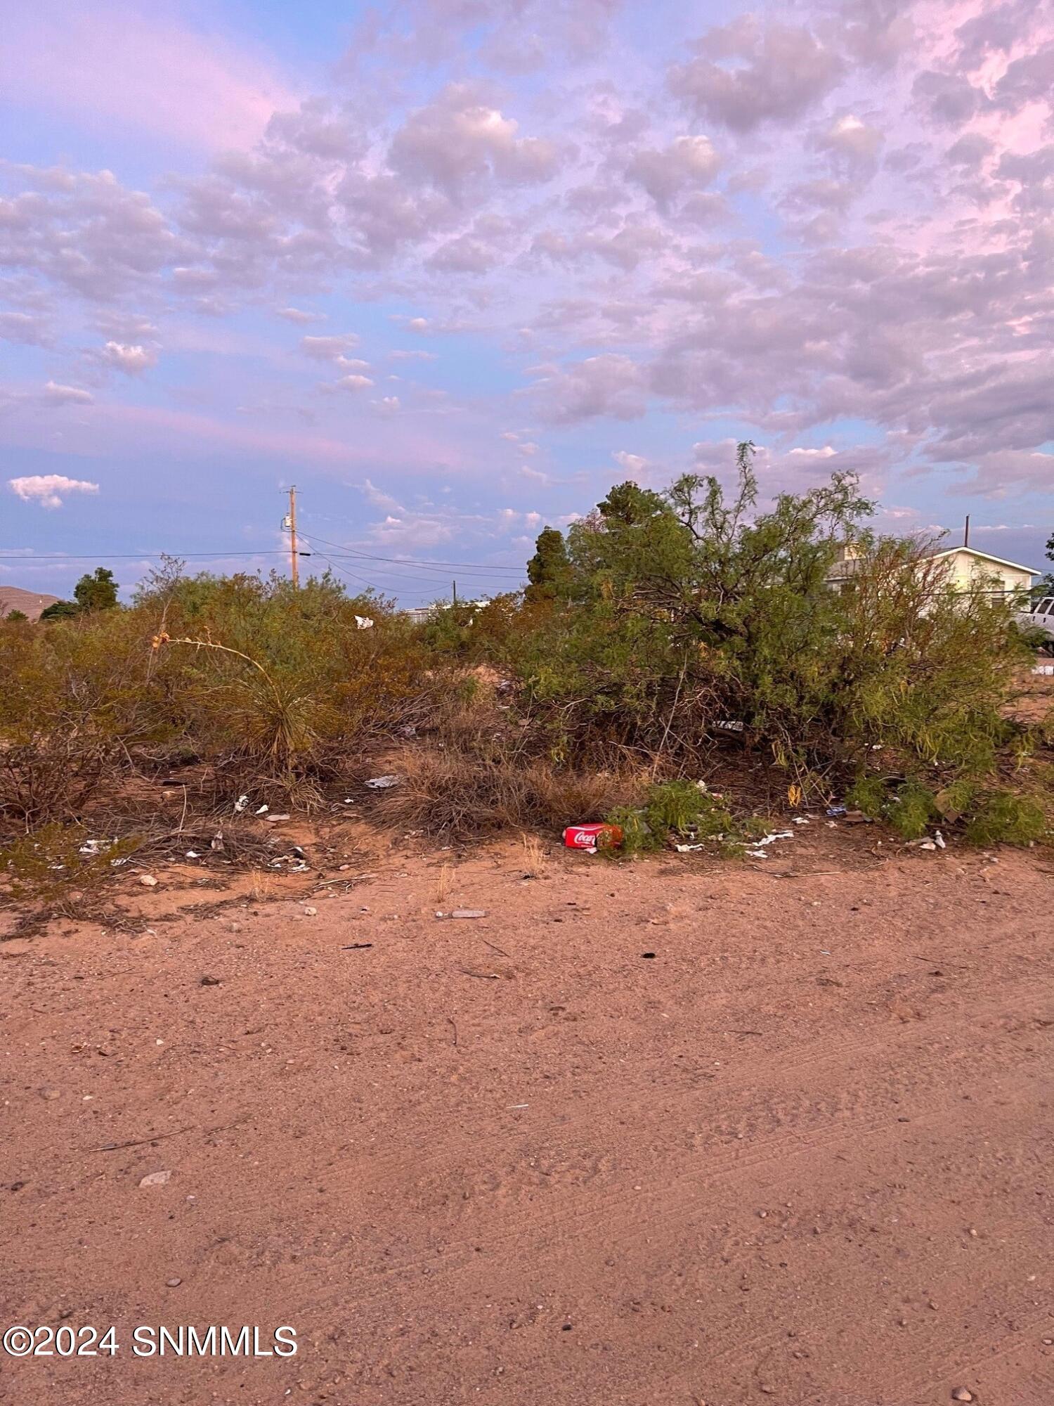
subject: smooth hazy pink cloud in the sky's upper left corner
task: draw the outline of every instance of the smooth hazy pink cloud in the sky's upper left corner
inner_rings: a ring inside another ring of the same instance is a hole
[[[197,34],[164,3],[122,0],[14,6],[4,21],[0,84],[8,103],[118,122],[191,146],[252,146],[288,84],[257,56]]]

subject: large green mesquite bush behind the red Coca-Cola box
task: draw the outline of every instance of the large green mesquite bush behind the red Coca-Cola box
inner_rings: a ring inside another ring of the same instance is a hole
[[[554,758],[698,775],[738,738],[812,796],[876,744],[908,776],[984,775],[1023,650],[1009,610],[953,593],[928,544],[873,537],[852,475],[759,512],[750,456],[731,499],[694,475],[623,484],[571,527],[566,602],[500,655]]]

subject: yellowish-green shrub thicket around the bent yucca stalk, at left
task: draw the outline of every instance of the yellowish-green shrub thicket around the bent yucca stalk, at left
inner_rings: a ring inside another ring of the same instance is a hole
[[[294,591],[166,562],[131,609],[0,631],[0,823],[74,820],[122,772],[190,758],[219,789],[312,804],[430,716],[444,669],[389,602],[330,578]]]

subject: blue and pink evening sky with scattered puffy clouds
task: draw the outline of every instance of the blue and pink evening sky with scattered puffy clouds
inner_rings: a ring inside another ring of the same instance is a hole
[[[0,582],[509,589],[632,478],[1054,531],[1047,0],[35,0],[0,38]]]

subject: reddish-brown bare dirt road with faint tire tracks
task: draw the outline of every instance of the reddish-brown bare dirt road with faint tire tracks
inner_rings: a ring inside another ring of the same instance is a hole
[[[0,943],[3,1316],[117,1341],[0,1400],[1048,1406],[1051,869],[392,848]]]

